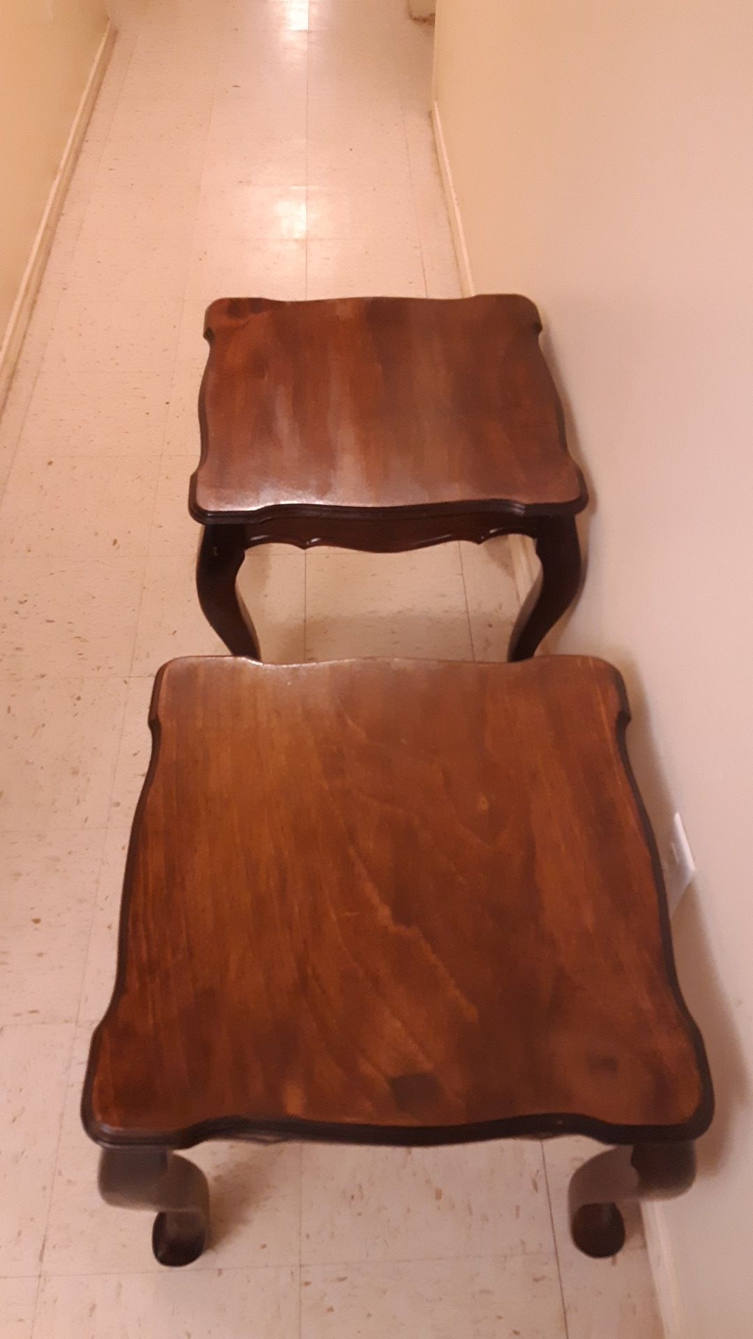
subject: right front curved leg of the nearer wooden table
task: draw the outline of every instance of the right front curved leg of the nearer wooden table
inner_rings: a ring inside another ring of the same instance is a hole
[[[670,1200],[695,1177],[693,1144],[636,1144],[599,1153],[575,1172],[568,1205],[572,1240],[584,1255],[600,1259],[624,1245],[618,1200]]]

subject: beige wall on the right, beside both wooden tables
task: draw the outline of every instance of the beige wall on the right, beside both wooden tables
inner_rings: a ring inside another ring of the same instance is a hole
[[[563,651],[627,672],[720,1114],[662,1209],[694,1339],[753,1326],[753,5],[439,0],[474,287],[540,305],[595,506]]]

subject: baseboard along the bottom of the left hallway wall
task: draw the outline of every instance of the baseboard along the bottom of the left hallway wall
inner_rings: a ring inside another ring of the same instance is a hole
[[[88,118],[96,100],[96,94],[99,92],[99,84],[102,83],[107,68],[114,40],[115,29],[111,23],[107,23],[105,36],[102,37],[96,55],[92,60],[88,79],[80,96],[74,123],[63,150],[63,157],[60,158],[60,166],[58,167],[55,181],[52,182],[50,195],[47,197],[47,205],[44,206],[42,222],[36,230],[31,256],[19,285],[19,292],[8,319],[3,343],[0,344],[0,408],[3,408],[3,403],[11,384],[11,378],[21,351],[33,303],[39,292],[50,249],[52,246],[55,226],[58,224],[58,218],[60,217],[60,210],[66,200],[66,191],[74,174],[79,149],[88,125]]]

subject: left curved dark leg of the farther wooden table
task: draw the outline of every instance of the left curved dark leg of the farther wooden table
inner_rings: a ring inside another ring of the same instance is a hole
[[[251,615],[236,590],[245,557],[243,525],[206,525],[196,564],[198,603],[208,623],[234,656],[261,660]]]

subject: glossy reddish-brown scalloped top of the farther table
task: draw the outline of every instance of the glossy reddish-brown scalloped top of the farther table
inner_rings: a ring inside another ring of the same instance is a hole
[[[212,303],[192,514],[581,510],[540,329],[515,295]]]

